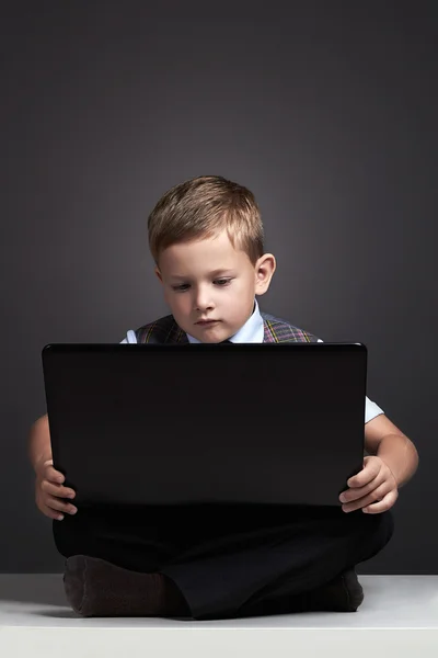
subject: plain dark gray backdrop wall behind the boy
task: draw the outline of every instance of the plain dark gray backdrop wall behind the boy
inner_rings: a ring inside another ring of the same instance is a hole
[[[394,537],[359,572],[438,572],[437,3],[10,4],[0,570],[62,567],[26,457],[43,345],[165,315],[147,215],[216,173],[260,203],[278,261],[262,309],[365,342],[369,396],[419,451]]]

